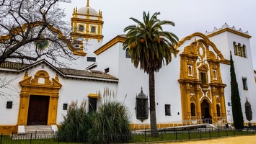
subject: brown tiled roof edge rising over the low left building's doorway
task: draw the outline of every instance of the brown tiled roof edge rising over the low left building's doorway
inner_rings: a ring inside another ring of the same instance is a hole
[[[102,71],[95,71],[95,70],[76,70],[76,69],[71,69],[71,68],[56,68],[55,66],[51,65],[50,63],[48,63],[47,60],[39,60],[35,63],[32,64],[25,64],[25,63],[15,63],[15,62],[10,62],[10,61],[6,61],[4,63],[1,63],[0,68],[1,71],[10,71],[10,69],[12,69],[12,71],[25,71],[27,68],[29,68],[32,65],[36,65],[38,63],[47,63],[50,67],[52,67],[53,69],[56,69],[56,71],[58,71],[58,73],[60,73],[61,76],[64,77],[79,77],[79,78],[90,78],[90,79],[100,79],[100,80],[112,80],[112,81],[118,81],[118,78],[116,78],[115,76],[112,76],[110,74],[107,73],[103,73]]]

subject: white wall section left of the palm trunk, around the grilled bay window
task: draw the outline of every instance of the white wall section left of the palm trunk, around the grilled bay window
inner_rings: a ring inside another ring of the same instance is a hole
[[[123,43],[119,44],[119,65],[118,65],[118,100],[125,102],[132,117],[133,123],[149,123],[149,119],[141,122],[136,119],[136,96],[143,88],[144,94],[149,98],[149,76],[140,68],[135,68],[131,58],[125,58]],[[125,97],[126,96],[126,97]]]

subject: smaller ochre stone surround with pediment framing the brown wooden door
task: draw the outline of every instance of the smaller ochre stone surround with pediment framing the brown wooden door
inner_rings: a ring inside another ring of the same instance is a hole
[[[40,70],[35,73],[35,77],[28,76],[25,73],[24,80],[19,82],[22,86],[20,91],[19,116],[17,125],[27,125],[27,115],[29,110],[30,96],[50,96],[48,104],[48,122],[47,125],[56,125],[57,109],[58,109],[58,91],[61,84],[58,82],[58,75],[49,79],[46,71]]]

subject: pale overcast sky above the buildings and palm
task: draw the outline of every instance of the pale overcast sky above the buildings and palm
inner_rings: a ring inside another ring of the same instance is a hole
[[[87,0],[72,0],[71,4],[61,4],[72,17],[73,9],[87,5]],[[252,36],[250,46],[256,69],[256,1],[255,0],[89,0],[89,6],[97,12],[102,11],[104,21],[103,44],[117,35],[124,34],[123,29],[135,24],[130,17],[142,19],[142,12],[161,12],[159,19],[175,22],[175,27],[165,30],[174,32],[180,40],[194,32],[211,32],[214,27],[223,24],[248,31]],[[248,53],[249,54],[249,53]],[[227,58],[229,59],[229,58]]]

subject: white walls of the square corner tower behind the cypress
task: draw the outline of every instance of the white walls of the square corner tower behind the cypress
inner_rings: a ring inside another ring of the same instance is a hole
[[[241,99],[241,105],[242,105],[242,112],[244,117],[244,122],[248,122],[246,120],[245,112],[244,112],[244,103],[246,102],[246,99],[250,102],[252,105],[252,122],[256,121],[256,114],[254,112],[255,109],[255,93],[256,93],[256,84],[255,84],[255,73],[253,70],[253,64],[252,64],[252,54],[251,54],[251,48],[250,48],[250,39],[247,37],[242,37],[240,35],[236,35],[231,32],[222,32],[219,35],[215,35],[213,37],[210,37],[210,39],[216,44],[217,48],[221,50],[221,53],[224,55],[224,58],[227,60],[230,60],[230,51],[232,53],[232,58],[234,60],[234,68],[237,76],[237,83],[239,86],[239,95]],[[234,46],[233,42],[241,43],[241,45],[246,45],[246,54],[247,58],[242,58],[237,55],[234,55]],[[226,67],[222,65],[221,67]],[[223,78],[226,78],[226,86],[225,88],[225,96],[226,96],[226,110],[231,111],[231,106],[228,106],[227,102],[231,102],[230,98],[230,67],[228,68],[221,68],[221,74]],[[225,71],[224,71],[225,70]],[[248,90],[243,89],[242,84],[242,77],[247,77],[247,86]],[[224,83],[225,84],[225,83]],[[227,92],[229,91],[229,92]],[[230,112],[231,113],[231,112]],[[228,112],[227,112],[228,114]],[[227,119],[230,122],[233,122],[232,114],[227,115]]]

